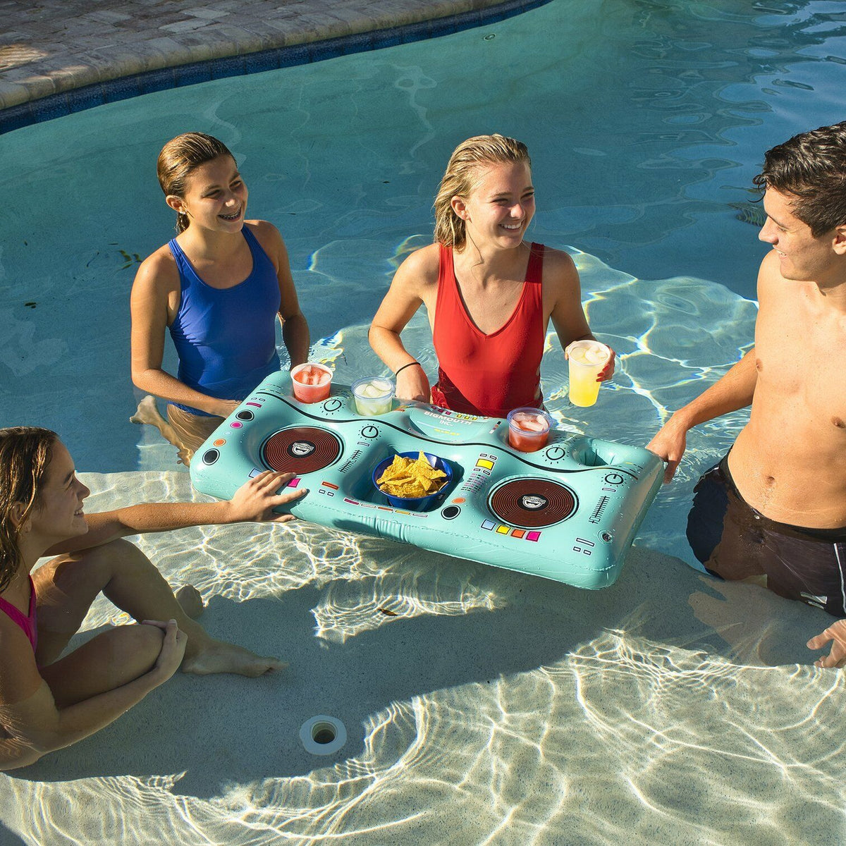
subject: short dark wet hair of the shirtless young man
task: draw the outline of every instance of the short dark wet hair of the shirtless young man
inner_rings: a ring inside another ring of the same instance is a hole
[[[752,180],[792,198],[791,211],[819,238],[846,223],[846,121],[794,135],[768,150]]]

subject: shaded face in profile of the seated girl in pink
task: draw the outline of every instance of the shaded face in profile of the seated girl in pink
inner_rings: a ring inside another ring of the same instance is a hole
[[[91,491],[76,478],[74,459],[62,442],[56,442],[47,475],[39,492],[36,508],[27,520],[27,528],[47,547],[57,541],[85,535],[82,503]],[[47,548],[45,547],[45,548]]]

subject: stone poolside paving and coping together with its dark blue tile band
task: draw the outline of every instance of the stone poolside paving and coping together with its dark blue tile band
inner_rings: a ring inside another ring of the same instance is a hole
[[[10,0],[0,135],[153,91],[451,35],[549,2]]]

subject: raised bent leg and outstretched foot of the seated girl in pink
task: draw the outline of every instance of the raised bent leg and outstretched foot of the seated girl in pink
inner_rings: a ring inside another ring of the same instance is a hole
[[[188,635],[181,667],[184,673],[259,676],[287,666],[276,658],[260,657],[240,646],[211,638],[185,613],[146,555],[128,541],[113,541],[54,558],[36,570],[33,579],[38,601],[36,657],[42,666],[58,658],[100,591],[139,622],[176,620]],[[196,611],[196,602],[189,602],[188,595],[182,593],[183,601]]]

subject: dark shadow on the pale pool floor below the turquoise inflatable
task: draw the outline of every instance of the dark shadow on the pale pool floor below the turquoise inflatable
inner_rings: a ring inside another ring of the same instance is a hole
[[[371,555],[394,557],[399,546],[367,544]],[[315,636],[315,611],[327,597],[343,605],[344,592],[352,591],[349,607],[372,602],[392,578],[413,584],[419,601],[437,604],[473,585],[497,607],[409,615],[382,609],[375,628],[341,642]],[[278,655],[291,667],[259,679],[177,675],[91,738],[10,775],[62,782],[184,773],[176,794],[211,798],[227,785],[306,776],[360,756],[371,717],[392,703],[552,665],[609,629],[760,666],[810,663],[805,640],[830,621],[817,609],[717,582],[640,548],[629,552],[617,584],[603,591],[418,550],[379,580],[376,586],[336,580],[279,599],[213,599],[203,617],[211,634]],[[319,714],[337,717],[348,732],[334,755],[311,755],[299,742],[300,726]]]

